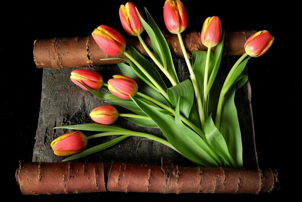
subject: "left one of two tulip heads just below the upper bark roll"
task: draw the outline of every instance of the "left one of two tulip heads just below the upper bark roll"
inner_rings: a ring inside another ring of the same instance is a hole
[[[71,72],[70,79],[84,90],[87,90],[87,88],[85,88],[81,83],[85,84],[92,90],[98,90],[103,85],[102,76],[92,70],[74,70]]]

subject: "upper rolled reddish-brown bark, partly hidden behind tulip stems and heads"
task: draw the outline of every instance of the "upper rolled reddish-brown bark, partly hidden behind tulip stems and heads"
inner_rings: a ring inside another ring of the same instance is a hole
[[[244,44],[254,30],[226,32],[224,55],[237,56],[245,53]],[[177,35],[165,34],[171,52],[179,57],[183,57]],[[199,32],[190,32],[183,35],[188,54],[191,55],[195,50],[205,50],[200,40]],[[151,47],[150,39],[144,38]],[[147,55],[144,48],[137,38],[129,38],[142,54]],[[213,49],[214,50],[214,49]],[[124,62],[121,60],[101,61],[100,59],[110,58],[95,43],[92,36],[75,38],[53,38],[38,39],[34,41],[34,61],[38,68],[75,68],[92,67],[93,65],[104,65]]]

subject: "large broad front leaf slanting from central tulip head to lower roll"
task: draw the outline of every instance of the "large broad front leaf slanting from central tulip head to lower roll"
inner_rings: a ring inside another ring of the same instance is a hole
[[[207,154],[204,148],[201,147],[203,146],[204,142],[198,134],[184,124],[176,124],[175,121],[157,111],[156,108],[145,104],[136,97],[131,98],[138,105],[138,107],[140,107],[141,110],[144,111],[157,124],[167,140],[179,151],[180,154],[184,155],[186,158],[198,165],[208,167],[219,166],[216,160]]]

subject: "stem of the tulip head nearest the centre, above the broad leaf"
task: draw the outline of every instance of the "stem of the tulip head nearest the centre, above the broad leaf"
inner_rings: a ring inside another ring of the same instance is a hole
[[[137,92],[136,94],[139,95],[139,96],[142,96],[142,97],[144,97],[144,98],[146,98],[146,99],[148,99],[148,100],[150,100],[152,103],[154,103],[154,104],[158,105],[159,107],[161,107],[161,108],[167,110],[167,111],[170,112],[171,114],[173,114],[173,115],[176,114],[175,110],[173,110],[172,108],[170,108],[170,107],[168,107],[168,106],[162,104],[162,103],[159,102],[158,100],[156,100],[156,99],[154,99],[154,98],[152,98],[152,97],[150,97],[150,96],[148,96],[148,95],[146,95],[146,94],[144,94],[144,93],[141,93],[141,92]],[[183,117],[182,115],[180,115],[180,119],[181,119],[184,123],[186,123],[189,127],[191,127],[193,130],[195,130],[195,132],[197,132],[197,134],[199,134],[202,138],[206,139],[204,132],[202,132],[202,130],[200,130],[196,125],[194,125],[192,122],[190,122],[188,119],[186,119],[186,118]]]

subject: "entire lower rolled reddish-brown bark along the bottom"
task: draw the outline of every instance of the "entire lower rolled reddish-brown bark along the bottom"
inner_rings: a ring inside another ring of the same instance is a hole
[[[110,166],[111,165],[111,166]],[[104,180],[108,178],[107,188]],[[258,193],[271,191],[271,169],[200,168],[133,163],[20,163],[16,179],[23,194],[96,191],[155,193]]]

